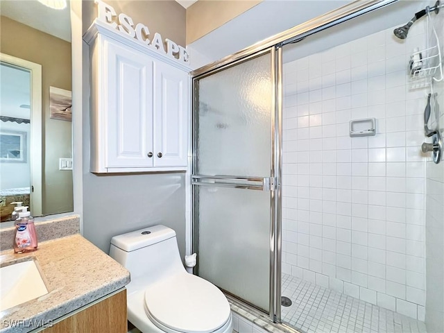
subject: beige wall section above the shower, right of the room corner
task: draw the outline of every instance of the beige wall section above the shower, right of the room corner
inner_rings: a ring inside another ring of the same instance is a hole
[[[197,1],[187,8],[187,45],[261,2],[262,0]]]

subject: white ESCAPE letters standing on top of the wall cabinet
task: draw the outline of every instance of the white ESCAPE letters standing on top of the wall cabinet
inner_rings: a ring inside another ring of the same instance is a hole
[[[188,62],[189,54],[185,47],[176,44],[172,40],[166,39],[165,44],[167,48],[165,49],[164,41],[162,40],[160,33],[155,33],[150,40],[148,26],[145,26],[142,23],[134,25],[133,19],[128,15],[123,14],[123,12],[117,16],[117,13],[112,6],[101,0],[94,0],[94,2],[97,3],[97,19],[99,19],[99,21],[112,26],[112,28],[117,29],[121,33],[125,33],[126,35],[139,40],[146,44],[146,46],[151,47],[160,53],[166,54],[170,58],[179,60],[180,62]]]

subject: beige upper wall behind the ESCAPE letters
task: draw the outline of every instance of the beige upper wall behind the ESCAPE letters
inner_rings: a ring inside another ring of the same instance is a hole
[[[116,10],[117,15],[124,12],[133,19],[134,24],[143,23],[150,33],[160,33],[162,39],[173,40],[185,46],[185,8],[176,1],[109,1],[105,3]],[[97,6],[92,0],[83,1],[83,33],[97,17]]]

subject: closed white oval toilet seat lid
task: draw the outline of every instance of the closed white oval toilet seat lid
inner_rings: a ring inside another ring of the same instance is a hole
[[[151,284],[144,308],[151,322],[169,333],[210,333],[230,322],[230,305],[223,293],[185,272]]]

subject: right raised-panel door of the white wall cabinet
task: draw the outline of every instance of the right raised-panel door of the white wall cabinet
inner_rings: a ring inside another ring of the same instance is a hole
[[[162,62],[154,71],[154,166],[186,167],[189,76]]]

